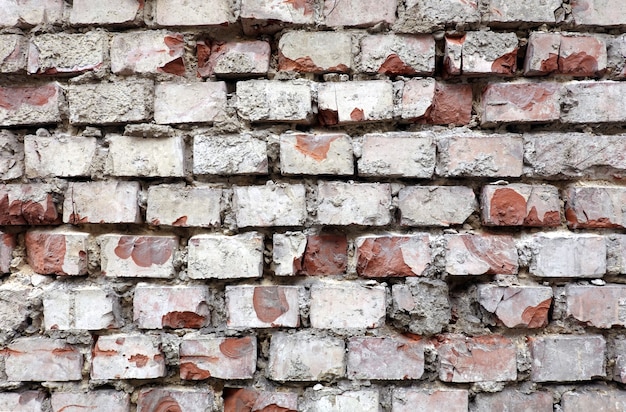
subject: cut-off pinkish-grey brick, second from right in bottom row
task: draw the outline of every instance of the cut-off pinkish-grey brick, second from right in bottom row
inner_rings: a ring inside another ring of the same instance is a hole
[[[527,394],[513,389],[496,393],[478,393],[470,410],[472,412],[552,412],[552,394],[543,391]]]

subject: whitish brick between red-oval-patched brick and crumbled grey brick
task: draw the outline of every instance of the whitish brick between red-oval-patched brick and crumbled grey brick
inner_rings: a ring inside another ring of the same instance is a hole
[[[385,287],[323,282],[311,287],[311,327],[377,328],[385,324]]]

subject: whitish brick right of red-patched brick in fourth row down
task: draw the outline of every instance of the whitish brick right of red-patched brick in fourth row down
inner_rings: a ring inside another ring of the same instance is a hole
[[[435,143],[430,133],[370,133],[358,141],[360,176],[430,178]]]

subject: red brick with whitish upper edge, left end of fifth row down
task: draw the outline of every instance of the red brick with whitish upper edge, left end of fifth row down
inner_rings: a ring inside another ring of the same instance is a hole
[[[42,183],[0,184],[0,225],[54,225],[61,222],[52,187]]]

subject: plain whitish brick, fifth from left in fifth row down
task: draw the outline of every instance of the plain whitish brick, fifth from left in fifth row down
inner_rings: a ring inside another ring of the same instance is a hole
[[[391,223],[391,186],[386,183],[319,182],[317,220],[323,225]]]

